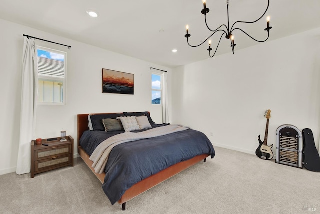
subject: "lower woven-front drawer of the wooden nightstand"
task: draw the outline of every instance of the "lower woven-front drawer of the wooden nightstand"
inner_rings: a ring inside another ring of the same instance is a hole
[[[51,158],[34,162],[34,172],[46,170],[52,167],[59,167],[71,163],[71,154],[52,156]]]

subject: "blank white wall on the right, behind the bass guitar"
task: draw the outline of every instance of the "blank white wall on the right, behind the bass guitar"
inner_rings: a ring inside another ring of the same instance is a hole
[[[274,153],[282,124],[310,128],[318,147],[319,44],[320,28],[173,69],[172,122],[204,132],[214,145],[254,154],[271,109]]]

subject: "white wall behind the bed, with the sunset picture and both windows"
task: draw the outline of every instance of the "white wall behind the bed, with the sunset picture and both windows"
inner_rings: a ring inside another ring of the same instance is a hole
[[[168,71],[168,106],[171,108],[171,69],[98,47],[0,19],[0,174],[15,171],[19,143],[23,34],[71,45],[36,40],[40,46],[67,52],[66,105],[39,105],[37,138],[60,135],[62,129],[77,142],[76,114],[150,111],[161,123],[161,108],[151,104],[150,67]],[[102,93],[102,68],[133,73],[134,95]],[[74,153],[77,153],[75,146]]]

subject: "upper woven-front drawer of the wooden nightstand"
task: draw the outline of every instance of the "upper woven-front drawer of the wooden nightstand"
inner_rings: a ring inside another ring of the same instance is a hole
[[[66,155],[71,153],[71,145],[52,146],[46,149],[34,151],[34,160],[51,158],[54,156]]]

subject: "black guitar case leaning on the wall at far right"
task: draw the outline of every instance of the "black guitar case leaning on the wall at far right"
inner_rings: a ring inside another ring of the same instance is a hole
[[[313,133],[311,129],[304,128],[302,130],[303,150],[302,161],[304,167],[310,171],[320,171],[320,156],[316,150]]]

